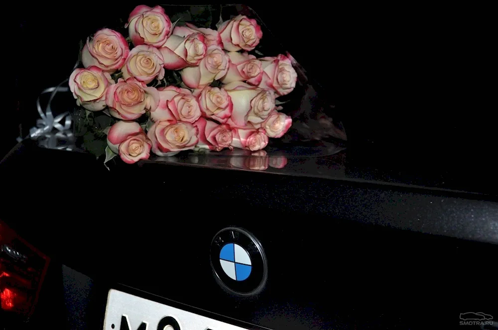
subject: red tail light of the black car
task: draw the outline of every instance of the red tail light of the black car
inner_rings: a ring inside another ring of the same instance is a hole
[[[4,312],[30,316],[49,258],[0,221],[0,301]]]

